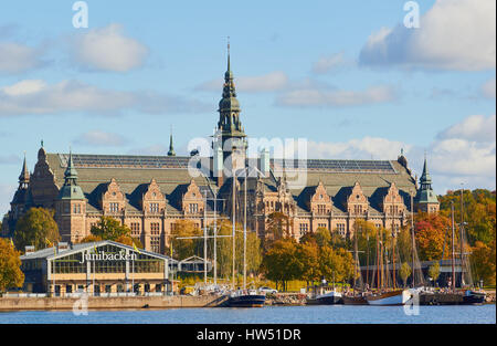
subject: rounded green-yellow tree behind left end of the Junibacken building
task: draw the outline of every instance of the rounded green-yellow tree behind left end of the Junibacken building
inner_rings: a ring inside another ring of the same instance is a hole
[[[44,208],[31,208],[15,224],[13,240],[15,247],[23,251],[27,245],[35,250],[46,248],[50,243],[60,241],[59,227],[53,219],[54,211]]]

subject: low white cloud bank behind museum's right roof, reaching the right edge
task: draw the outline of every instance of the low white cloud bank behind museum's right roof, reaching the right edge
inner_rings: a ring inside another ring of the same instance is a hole
[[[489,132],[485,127],[489,127]],[[495,116],[468,116],[440,132],[426,147],[379,137],[307,143],[308,157],[317,159],[394,160],[401,149],[417,177],[427,149],[429,170],[438,193],[459,188],[461,182],[470,189],[496,187]]]

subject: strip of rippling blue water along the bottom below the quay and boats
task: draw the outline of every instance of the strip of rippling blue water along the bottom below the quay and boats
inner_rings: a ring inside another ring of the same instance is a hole
[[[265,306],[262,308],[169,308],[73,312],[0,313],[0,324],[495,324],[495,304],[479,306],[420,306],[406,315],[403,306]]]

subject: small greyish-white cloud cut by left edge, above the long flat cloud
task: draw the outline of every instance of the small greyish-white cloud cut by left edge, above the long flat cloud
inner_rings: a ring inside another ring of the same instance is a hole
[[[40,50],[28,45],[0,42],[0,74],[22,73],[43,65]]]

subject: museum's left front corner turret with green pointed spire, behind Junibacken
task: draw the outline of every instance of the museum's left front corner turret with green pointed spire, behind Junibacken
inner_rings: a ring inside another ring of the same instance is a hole
[[[77,242],[87,235],[85,234],[86,198],[77,185],[77,170],[71,151],[64,171],[64,185],[55,201],[55,221],[59,224],[62,241]]]

